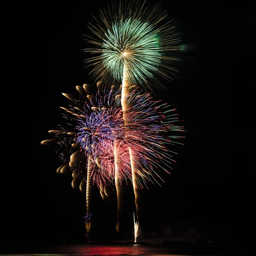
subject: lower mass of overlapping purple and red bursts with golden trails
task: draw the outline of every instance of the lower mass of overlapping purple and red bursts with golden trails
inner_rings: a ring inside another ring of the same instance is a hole
[[[76,88],[81,94],[80,99],[63,93],[71,101],[68,108],[62,108],[67,124],[49,131],[55,134],[55,139],[41,144],[57,145],[56,151],[64,160],[57,172],[73,171],[73,188],[80,187],[86,192],[87,215],[92,213],[93,184],[106,199],[105,188],[114,183],[119,216],[122,183],[132,183],[134,191],[147,187],[148,181],[159,183],[159,170],[169,172],[174,161],[174,152],[167,145],[177,143],[179,137],[173,133],[183,131],[183,128],[175,125],[178,121],[177,114],[172,114],[175,109],[154,102],[149,93],[137,93],[136,88],[125,99],[128,106],[125,113],[121,108],[122,89],[86,96],[83,87]],[[137,192],[135,199],[138,208]],[[117,223],[119,230],[119,218]],[[89,232],[90,220],[87,220],[86,228]]]

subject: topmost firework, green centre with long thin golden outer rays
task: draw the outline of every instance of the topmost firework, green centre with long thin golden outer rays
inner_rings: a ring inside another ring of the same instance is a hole
[[[126,70],[128,83],[152,90],[150,80],[163,88],[155,75],[168,80],[175,76],[173,62],[178,59],[170,52],[180,49],[180,40],[173,20],[161,24],[167,13],[159,4],[149,7],[145,2],[123,1],[100,10],[99,16],[97,26],[89,26],[94,36],[88,42],[93,47],[84,49],[95,55],[85,62],[93,66],[91,73],[97,81],[112,77],[121,82]]]

